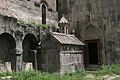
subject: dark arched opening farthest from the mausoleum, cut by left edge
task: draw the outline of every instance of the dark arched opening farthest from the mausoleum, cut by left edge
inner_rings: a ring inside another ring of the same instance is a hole
[[[11,62],[11,69],[16,69],[15,56],[16,43],[11,34],[3,33],[0,35],[0,63]],[[10,66],[9,66],[10,67]]]

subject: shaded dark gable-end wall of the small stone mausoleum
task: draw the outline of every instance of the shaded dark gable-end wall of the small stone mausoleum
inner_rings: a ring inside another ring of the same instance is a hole
[[[46,37],[46,38],[45,38]],[[46,72],[59,72],[60,56],[56,39],[46,35],[41,44],[41,69]]]

